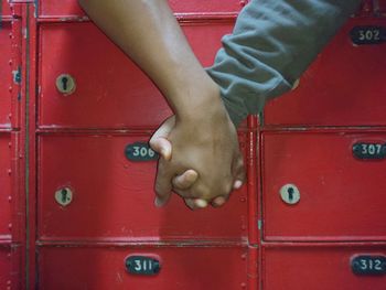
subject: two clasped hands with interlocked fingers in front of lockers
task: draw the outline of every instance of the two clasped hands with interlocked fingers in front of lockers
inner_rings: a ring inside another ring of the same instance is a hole
[[[222,206],[245,179],[236,130],[225,111],[194,120],[169,118],[150,146],[160,153],[156,204],[168,203],[172,190],[192,208]],[[225,114],[224,114],[225,112]]]

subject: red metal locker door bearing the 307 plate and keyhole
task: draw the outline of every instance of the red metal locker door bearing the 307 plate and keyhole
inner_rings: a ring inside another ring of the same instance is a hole
[[[386,133],[262,135],[264,235],[267,240],[385,240],[386,160],[358,160],[356,142],[386,143]],[[294,184],[298,204],[280,189]]]

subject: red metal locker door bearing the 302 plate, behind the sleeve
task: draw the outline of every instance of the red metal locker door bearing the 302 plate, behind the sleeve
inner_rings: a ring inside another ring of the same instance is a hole
[[[269,103],[266,126],[385,126],[386,44],[354,45],[350,31],[386,18],[355,18],[340,31],[291,93]]]

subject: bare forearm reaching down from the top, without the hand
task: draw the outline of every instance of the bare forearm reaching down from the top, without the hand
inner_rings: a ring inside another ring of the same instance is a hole
[[[192,117],[208,104],[221,104],[218,87],[194,56],[167,0],[79,0],[79,3],[156,83],[178,118]]]

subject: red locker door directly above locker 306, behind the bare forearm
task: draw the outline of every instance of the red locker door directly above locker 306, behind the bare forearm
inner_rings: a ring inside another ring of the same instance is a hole
[[[210,65],[232,23],[183,29],[197,57]],[[154,128],[171,115],[156,86],[93,24],[43,24],[40,32],[41,128]],[[72,95],[56,88],[61,74],[75,78]]]

